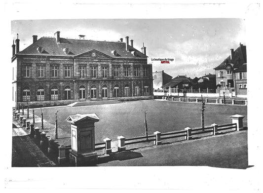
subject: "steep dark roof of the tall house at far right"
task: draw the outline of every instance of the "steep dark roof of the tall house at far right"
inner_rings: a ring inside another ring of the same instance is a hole
[[[239,47],[234,50],[234,55],[232,60],[230,55],[214,70],[225,69],[227,64],[232,64],[233,68],[239,68],[242,64],[247,63],[247,48],[245,45],[240,44]]]

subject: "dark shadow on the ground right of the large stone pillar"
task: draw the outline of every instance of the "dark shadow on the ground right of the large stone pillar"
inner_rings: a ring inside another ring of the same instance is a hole
[[[139,157],[143,157],[143,155],[138,152],[133,152],[133,151],[118,152],[118,153],[109,154],[109,156],[98,157],[98,164],[107,163],[109,161],[114,161],[114,160],[122,161],[127,159],[135,159]]]

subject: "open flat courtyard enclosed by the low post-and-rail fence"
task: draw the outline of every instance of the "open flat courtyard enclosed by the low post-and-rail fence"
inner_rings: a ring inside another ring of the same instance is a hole
[[[95,123],[95,142],[99,143],[106,137],[113,141],[117,136],[126,138],[144,135],[144,110],[147,109],[147,123],[149,134],[154,131],[168,132],[182,130],[186,127],[201,126],[201,104],[178,103],[166,101],[134,101],[117,104],[92,106],[64,106],[43,108],[44,120],[54,124],[55,113],[58,112],[58,127],[70,133],[70,123],[66,118],[75,114],[96,113],[100,121]],[[142,111],[143,110],[143,111]],[[32,113],[32,110],[30,110]],[[40,116],[40,109],[35,115]],[[206,104],[205,125],[231,123],[229,116],[239,114],[245,116],[244,126],[247,126],[247,107]]]

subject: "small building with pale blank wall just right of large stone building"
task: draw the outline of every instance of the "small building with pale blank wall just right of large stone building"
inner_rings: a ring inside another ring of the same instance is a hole
[[[166,74],[165,72],[154,72],[152,73],[153,78],[153,90],[162,90],[164,84],[172,80],[172,76]]]

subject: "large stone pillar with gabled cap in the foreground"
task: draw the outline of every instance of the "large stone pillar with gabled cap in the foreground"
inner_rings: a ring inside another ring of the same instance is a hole
[[[66,119],[71,123],[71,152],[72,166],[88,166],[97,163],[98,154],[95,152],[94,123],[100,119],[96,114],[74,115]]]

